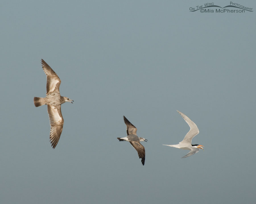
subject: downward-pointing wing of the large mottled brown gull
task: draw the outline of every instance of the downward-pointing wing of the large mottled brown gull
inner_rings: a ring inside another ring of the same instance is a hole
[[[61,114],[61,105],[55,107],[48,104],[47,111],[49,114],[50,125],[51,125],[50,141],[51,141],[51,146],[54,149],[59,141],[59,138],[63,129],[63,123],[64,123],[64,120]]]

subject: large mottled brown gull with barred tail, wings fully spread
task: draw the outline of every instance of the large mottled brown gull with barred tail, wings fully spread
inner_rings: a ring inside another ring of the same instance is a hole
[[[63,97],[59,93],[59,86],[61,80],[59,76],[51,69],[51,67],[42,59],[41,60],[44,73],[46,74],[46,97],[34,97],[34,104],[36,107],[47,104],[47,111],[50,119],[50,141],[53,149],[56,147],[62,129],[63,129],[63,117],[61,114],[61,104],[65,102],[72,103],[71,99]],[[73,101],[74,102],[74,101]]]

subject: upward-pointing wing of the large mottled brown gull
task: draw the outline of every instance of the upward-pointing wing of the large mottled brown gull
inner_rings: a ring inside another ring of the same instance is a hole
[[[41,59],[41,63],[42,63],[44,73],[47,76],[47,78],[46,78],[46,95],[48,95],[51,92],[59,93],[59,86],[61,83],[59,76],[51,69],[51,67],[43,59]]]

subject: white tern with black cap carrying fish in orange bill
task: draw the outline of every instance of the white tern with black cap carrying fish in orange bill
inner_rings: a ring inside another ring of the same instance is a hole
[[[203,145],[191,145],[191,141],[192,141],[193,137],[195,137],[199,133],[197,125],[182,112],[178,111],[178,113],[187,122],[187,124],[190,127],[190,130],[187,133],[187,135],[185,136],[185,138],[178,145],[166,145],[166,146],[172,146],[172,147],[176,147],[179,149],[190,150],[190,152],[188,154],[186,154],[185,156],[182,157],[182,158],[186,158],[186,157],[189,157],[189,156],[199,152],[199,149],[204,150],[204,148],[203,148]]]

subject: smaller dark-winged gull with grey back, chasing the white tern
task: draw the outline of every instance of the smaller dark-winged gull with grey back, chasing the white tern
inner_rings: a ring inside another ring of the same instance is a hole
[[[133,148],[138,152],[139,158],[141,158],[141,163],[144,166],[145,163],[145,148],[141,145],[141,141],[147,142],[147,139],[137,136],[137,128],[123,116],[123,120],[126,124],[127,137],[117,137],[119,141],[129,141]]]

